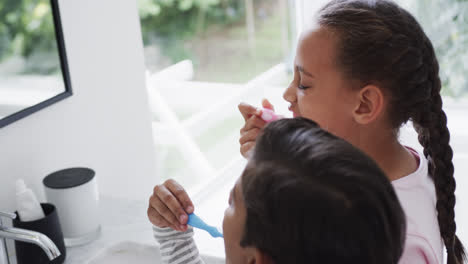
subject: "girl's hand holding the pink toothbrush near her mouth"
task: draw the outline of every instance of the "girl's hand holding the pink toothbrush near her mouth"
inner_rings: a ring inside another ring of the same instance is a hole
[[[273,105],[268,100],[262,100],[263,108],[274,110]],[[240,152],[242,156],[248,158],[255,146],[255,141],[266,122],[261,118],[262,110],[246,103],[239,104],[239,111],[245,120],[244,127],[240,130]]]

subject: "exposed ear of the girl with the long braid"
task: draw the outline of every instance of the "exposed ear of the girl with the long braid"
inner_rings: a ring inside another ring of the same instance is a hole
[[[375,85],[363,87],[357,94],[357,105],[353,111],[354,120],[361,125],[372,123],[383,112],[384,96]]]

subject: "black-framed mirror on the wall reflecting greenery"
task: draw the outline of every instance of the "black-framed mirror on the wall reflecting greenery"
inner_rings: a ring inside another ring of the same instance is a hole
[[[0,4],[0,128],[72,95],[58,0]]]

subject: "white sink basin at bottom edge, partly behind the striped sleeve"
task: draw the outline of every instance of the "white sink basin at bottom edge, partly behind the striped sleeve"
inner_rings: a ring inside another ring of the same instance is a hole
[[[218,257],[201,255],[206,264],[225,263],[224,259]],[[87,264],[158,264],[162,263],[159,247],[123,241],[110,246],[99,252]]]

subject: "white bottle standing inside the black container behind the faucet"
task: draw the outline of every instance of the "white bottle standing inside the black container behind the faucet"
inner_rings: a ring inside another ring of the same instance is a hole
[[[19,219],[23,222],[38,220],[45,216],[36,195],[26,187],[23,179],[16,181],[16,207]]]

